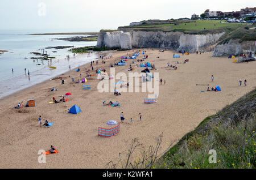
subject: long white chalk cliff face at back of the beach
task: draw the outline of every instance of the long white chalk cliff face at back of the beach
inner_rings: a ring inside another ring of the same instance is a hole
[[[188,35],[183,32],[114,31],[100,32],[97,46],[108,48],[167,48],[196,52],[218,41],[225,32],[207,35]]]

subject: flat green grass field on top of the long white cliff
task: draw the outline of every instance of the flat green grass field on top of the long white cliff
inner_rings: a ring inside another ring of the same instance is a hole
[[[224,32],[227,27],[245,27],[247,23],[226,23],[225,20],[193,20],[178,21],[172,24],[142,24],[135,26],[125,26],[119,28],[127,28],[133,31],[179,31],[188,34],[206,34]]]

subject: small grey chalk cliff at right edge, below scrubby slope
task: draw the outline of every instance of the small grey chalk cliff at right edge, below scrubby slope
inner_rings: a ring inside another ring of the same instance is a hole
[[[242,53],[243,49],[250,49],[250,41],[229,40],[226,44],[218,44],[214,49],[213,56],[238,55]]]

